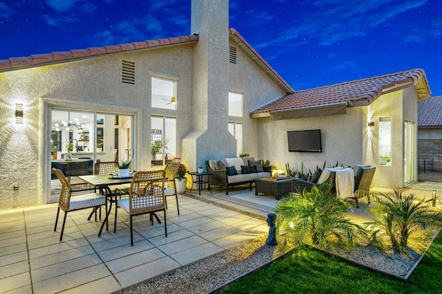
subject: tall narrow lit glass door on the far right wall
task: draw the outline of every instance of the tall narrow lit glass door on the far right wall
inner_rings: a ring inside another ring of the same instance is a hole
[[[405,185],[416,182],[416,132],[412,121],[405,120],[404,124],[404,158],[403,182]]]

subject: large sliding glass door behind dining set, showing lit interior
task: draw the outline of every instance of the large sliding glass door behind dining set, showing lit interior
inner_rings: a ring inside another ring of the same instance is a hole
[[[52,109],[51,118],[51,201],[58,199],[60,185],[52,167],[75,183],[77,176],[93,174],[97,161],[132,158],[132,116]]]

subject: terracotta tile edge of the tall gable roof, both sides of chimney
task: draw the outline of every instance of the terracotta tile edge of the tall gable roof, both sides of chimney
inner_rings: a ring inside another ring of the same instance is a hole
[[[235,36],[238,39],[239,43],[244,46],[244,48],[251,54],[256,61],[258,61],[264,68],[265,71],[280,84],[282,87],[285,87],[287,93],[293,93],[294,90],[291,86],[284,81],[284,79],[275,71],[273,68],[265,61],[256,50],[254,50],[247,41],[233,28],[229,29],[229,35]],[[30,66],[39,66],[39,65],[48,65],[52,63],[60,63],[66,61],[73,61],[75,59],[82,58],[90,58],[94,56],[113,54],[113,53],[122,53],[122,52],[130,52],[133,50],[144,50],[147,48],[157,48],[160,46],[167,45],[178,45],[183,43],[193,43],[198,42],[198,35],[187,35],[187,36],[177,36],[166,39],[157,39],[157,40],[146,40],[142,42],[133,42],[126,44],[118,44],[118,45],[108,45],[104,47],[95,47],[88,49],[79,49],[79,50],[69,50],[65,52],[52,52],[48,54],[35,54],[31,56],[25,57],[15,57],[10,59],[0,60],[0,72],[8,71],[8,70],[17,70],[23,67]]]

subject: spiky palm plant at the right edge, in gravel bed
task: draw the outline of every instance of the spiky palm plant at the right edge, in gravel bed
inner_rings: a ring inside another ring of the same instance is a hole
[[[414,194],[405,196],[395,190],[383,197],[374,195],[378,207],[372,222],[367,222],[370,243],[381,251],[391,246],[395,252],[406,252],[410,235],[421,229],[442,225],[442,213],[427,204],[430,200],[415,200]]]

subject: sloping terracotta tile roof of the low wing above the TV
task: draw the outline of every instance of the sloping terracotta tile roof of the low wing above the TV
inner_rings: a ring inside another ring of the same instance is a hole
[[[338,103],[369,105],[381,96],[381,94],[416,85],[421,80],[424,81],[424,83],[420,85],[423,89],[419,90],[422,91],[421,96],[427,98],[427,96],[430,95],[430,90],[427,86],[425,72],[421,69],[415,69],[296,91],[293,94],[284,96],[277,101],[273,101],[264,107],[256,109],[251,112],[251,114],[335,105]]]

